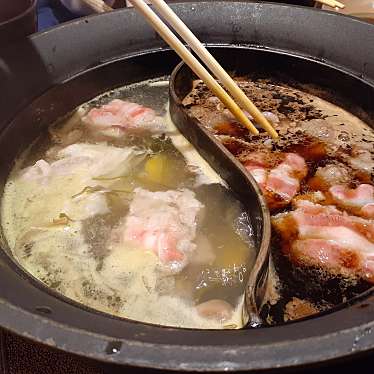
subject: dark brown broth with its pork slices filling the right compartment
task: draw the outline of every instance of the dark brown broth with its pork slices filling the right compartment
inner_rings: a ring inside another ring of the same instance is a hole
[[[279,139],[250,134],[201,81],[183,105],[253,176],[272,213],[276,286],[262,316],[273,324],[330,309],[373,283],[374,132],[284,82],[235,79]]]

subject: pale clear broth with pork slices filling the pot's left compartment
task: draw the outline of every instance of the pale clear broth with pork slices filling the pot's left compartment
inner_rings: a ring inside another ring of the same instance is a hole
[[[9,177],[3,231],[26,271],[87,307],[160,325],[240,328],[256,258],[251,222],[178,138],[166,102],[166,87],[145,82],[51,126]]]

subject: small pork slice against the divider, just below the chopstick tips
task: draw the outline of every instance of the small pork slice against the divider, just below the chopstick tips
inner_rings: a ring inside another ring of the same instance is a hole
[[[296,153],[251,153],[244,166],[259,184],[272,210],[291,202],[308,172],[304,159]]]

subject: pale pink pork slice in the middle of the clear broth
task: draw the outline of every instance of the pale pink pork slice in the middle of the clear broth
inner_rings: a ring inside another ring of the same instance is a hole
[[[112,238],[125,248],[154,252],[165,270],[181,271],[196,250],[198,214],[203,205],[190,190],[135,189],[126,219]]]

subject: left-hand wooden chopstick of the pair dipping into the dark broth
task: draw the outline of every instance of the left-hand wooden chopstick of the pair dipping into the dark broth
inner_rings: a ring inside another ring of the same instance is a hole
[[[191,68],[192,71],[208,86],[222,103],[230,110],[235,118],[248,128],[253,134],[257,135],[258,130],[243,113],[235,101],[226,93],[226,91],[209,74],[203,65],[192,55],[183,43],[174,35],[174,33],[163,23],[158,15],[143,1],[130,0],[133,6],[145,17],[158,34],[167,44],[180,56],[180,58]]]

